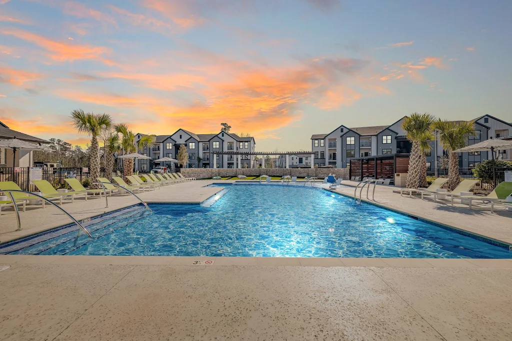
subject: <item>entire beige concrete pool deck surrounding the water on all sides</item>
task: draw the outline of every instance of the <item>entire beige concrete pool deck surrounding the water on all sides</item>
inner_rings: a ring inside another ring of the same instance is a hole
[[[140,197],[199,203],[221,189],[203,187],[212,182]],[[377,186],[377,203],[512,240],[512,212],[392,191]],[[84,219],[137,202],[112,196],[108,209],[104,199],[63,207]],[[70,222],[53,207],[20,216],[23,230],[13,232],[13,212],[3,212],[1,240]],[[509,259],[0,255],[0,264],[10,266],[0,271],[2,340],[512,339]]]

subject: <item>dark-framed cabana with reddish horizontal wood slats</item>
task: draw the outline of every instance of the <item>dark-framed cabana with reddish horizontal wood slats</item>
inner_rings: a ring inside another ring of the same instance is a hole
[[[365,156],[350,159],[349,176],[393,179],[395,173],[409,171],[409,154]]]

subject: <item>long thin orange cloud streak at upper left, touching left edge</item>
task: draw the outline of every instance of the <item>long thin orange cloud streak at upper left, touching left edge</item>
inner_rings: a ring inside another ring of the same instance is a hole
[[[48,56],[56,61],[96,59],[104,62],[105,64],[112,63],[108,59],[103,58],[103,55],[110,52],[109,49],[104,47],[79,45],[68,41],[58,42],[28,31],[16,29],[6,29],[0,31],[0,33],[5,35],[12,35],[16,38],[32,42],[40,48],[48,51]]]

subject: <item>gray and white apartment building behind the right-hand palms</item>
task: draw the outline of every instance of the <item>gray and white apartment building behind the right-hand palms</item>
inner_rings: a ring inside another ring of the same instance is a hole
[[[340,125],[327,134],[313,134],[311,148],[314,153],[314,166],[346,168],[350,164],[350,159],[354,157],[410,153],[411,143],[401,127],[404,118],[385,126],[349,128]],[[478,133],[475,137],[468,139],[468,145],[512,134],[512,124],[490,115],[478,117],[471,122],[475,124]],[[436,167],[438,157],[445,152],[438,137],[431,142],[431,147],[426,161],[427,166],[433,169]],[[500,150],[497,155],[502,160],[511,160],[511,156],[510,149]],[[460,153],[459,166],[475,167],[491,157],[490,151]]]

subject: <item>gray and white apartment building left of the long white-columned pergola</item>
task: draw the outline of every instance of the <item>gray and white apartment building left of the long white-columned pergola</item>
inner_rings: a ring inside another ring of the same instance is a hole
[[[144,134],[138,133],[136,141]],[[234,133],[219,132],[217,134],[196,134],[185,129],[178,129],[169,135],[158,135],[155,146],[145,148],[141,154],[151,157],[151,160],[138,160],[136,170],[147,171],[156,166],[154,161],[162,157],[177,158],[180,147],[184,145],[188,153],[187,168],[214,168],[214,154],[217,168],[253,168],[254,155],[221,155],[215,152],[241,151],[254,152],[253,137],[240,137]],[[148,150],[149,149],[149,150]],[[173,165],[178,167],[177,163]]]

